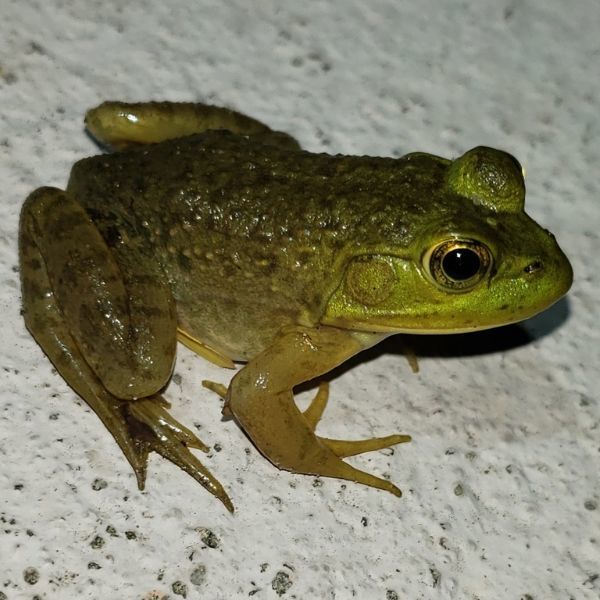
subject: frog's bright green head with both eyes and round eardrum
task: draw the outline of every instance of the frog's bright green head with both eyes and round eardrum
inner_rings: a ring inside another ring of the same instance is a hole
[[[439,161],[443,159],[437,159]],[[571,286],[554,236],[524,212],[519,163],[491,148],[443,161],[431,211],[410,213],[406,243],[343,257],[324,321],[383,332],[454,333],[521,321]]]

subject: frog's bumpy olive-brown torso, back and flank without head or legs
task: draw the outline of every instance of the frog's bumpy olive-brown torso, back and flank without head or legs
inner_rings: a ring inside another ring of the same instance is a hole
[[[109,244],[143,244],[161,264],[188,332],[243,358],[283,325],[318,322],[345,248],[408,245],[444,171],[426,155],[312,154],[212,131],[84,159],[68,191]]]

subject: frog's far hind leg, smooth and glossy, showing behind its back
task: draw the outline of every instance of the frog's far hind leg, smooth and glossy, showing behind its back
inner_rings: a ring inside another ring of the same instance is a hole
[[[227,129],[253,136],[261,143],[297,150],[298,142],[287,133],[273,131],[242,113],[192,102],[104,102],[85,117],[88,131],[109,149],[124,150],[202,133]]]

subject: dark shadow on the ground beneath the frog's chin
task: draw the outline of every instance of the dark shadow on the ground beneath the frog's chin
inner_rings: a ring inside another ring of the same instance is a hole
[[[515,323],[494,329],[452,335],[392,335],[349,358],[324,376],[297,386],[295,391],[312,389],[319,381],[337,379],[346,371],[369,363],[384,354],[401,357],[414,354],[418,361],[420,358],[461,358],[506,352],[550,335],[569,319],[569,315],[569,302],[566,298],[562,298],[548,310],[525,321],[525,324]]]

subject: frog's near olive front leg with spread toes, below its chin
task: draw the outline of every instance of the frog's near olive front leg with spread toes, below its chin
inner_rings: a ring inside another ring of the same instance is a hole
[[[232,380],[227,407],[256,447],[276,466],[313,475],[348,479],[400,496],[391,482],[360,471],[345,456],[386,448],[410,440],[406,435],[346,441],[315,435],[327,402],[321,387],[302,413],[294,386],[313,379],[362,350],[357,336],[333,327],[298,328],[282,334]]]

